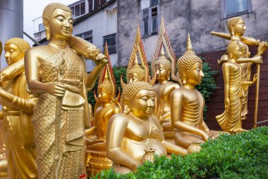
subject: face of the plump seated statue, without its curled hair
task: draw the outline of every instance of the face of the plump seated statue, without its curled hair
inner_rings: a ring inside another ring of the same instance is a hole
[[[128,108],[135,117],[147,119],[154,112],[155,107],[155,91],[140,90],[132,100],[128,101]]]

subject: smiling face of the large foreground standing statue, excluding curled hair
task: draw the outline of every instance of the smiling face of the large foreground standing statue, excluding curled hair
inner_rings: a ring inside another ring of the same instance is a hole
[[[73,33],[72,13],[56,8],[52,13],[49,23],[44,21],[46,30],[49,30],[50,37],[60,40],[67,40]]]

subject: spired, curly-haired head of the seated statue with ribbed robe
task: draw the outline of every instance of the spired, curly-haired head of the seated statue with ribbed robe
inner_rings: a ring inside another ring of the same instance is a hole
[[[186,83],[197,85],[201,83],[204,74],[202,72],[202,60],[193,52],[190,35],[188,34],[188,42],[186,52],[177,62],[178,74],[183,86]]]

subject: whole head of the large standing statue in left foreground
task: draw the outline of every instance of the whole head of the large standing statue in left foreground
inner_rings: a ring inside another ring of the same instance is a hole
[[[47,40],[55,37],[67,40],[73,33],[72,11],[68,6],[59,3],[48,4],[43,11],[43,23]]]

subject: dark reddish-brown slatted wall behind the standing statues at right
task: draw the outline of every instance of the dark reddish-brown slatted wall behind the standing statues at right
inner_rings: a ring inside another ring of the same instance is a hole
[[[214,70],[219,71],[219,74],[215,76],[215,80],[219,89],[217,89],[212,96],[208,105],[208,119],[207,125],[211,129],[220,129],[216,115],[224,112],[224,79],[222,76],[221,65],[217,64],[217,59],[221,58],[221,55],[225,51],[219,52],[209,52],[205,54],[199,54],[200,57],[205,57],[207,62],[209,62],[210,67]],[[257,48],[251,48],[251,57],[256,54]],[[260,67],[260,93],[259,93],[259,110],[258,110],[258,122],[263,120],[268,120],[268,51],[263,54],[263,64]],[[256,73],[256,65],[252,66],[252,75]],[[255,84],[250,87],[248,96],[248,115],[247,119],[243,121],[243,127],[245,129],[250,129],[254,125],[254,110],[255,110]],[[263,124],[264,125],[264,124]]]

